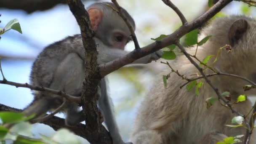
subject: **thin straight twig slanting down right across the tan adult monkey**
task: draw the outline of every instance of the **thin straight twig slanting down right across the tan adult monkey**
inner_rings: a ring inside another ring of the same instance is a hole
[[[203,76],[203,78],[205,79],[206,83],[208,83],[211,88],[213,89],[213,91],[215,91],[215,93],[217,94],[218,98],[221,99],[225,104],[227,104],[227,106],[229,107],[229,109],[231,109],[231,111],[233,113],[236,113],[237,115],[244,117],[245,115],[243,115],[242,113],[240,113],[235,107],[233,107],[230,103],[229,100],[227,100],[226,98],[224,98],[223,96],[221,96],[221,93],[219,93],[218,88],[215,88],[214,85],[211,83],[211,81],[208,79],[208,77],[205,75],[205,73],[203,72],[203,69],[201,67],[199,67],[199,65],[191,58],[191,56],[189,56],[189,54],[187,53],[187,51],[184,49],[184,47],[177,42],[176,45],[179,47],[179,49],[184,53],[184,55],[187,57],[187,59],[189,59],[189,61],[191,62],[191,64],[193,64],[198,71],[201,73],[201,75]],[[250,124],[248,123],[248,121],[245,119],[244,120],[245,125],[248,129],[251,129]]]

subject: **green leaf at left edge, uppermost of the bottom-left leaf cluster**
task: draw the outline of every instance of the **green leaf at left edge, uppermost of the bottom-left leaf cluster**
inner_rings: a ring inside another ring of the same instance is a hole
[[[0,112],[3,123],[17,123],[24,120],[24,115],[20,112]]]

